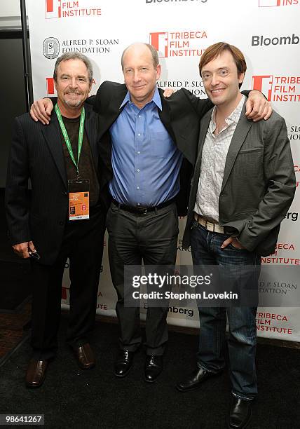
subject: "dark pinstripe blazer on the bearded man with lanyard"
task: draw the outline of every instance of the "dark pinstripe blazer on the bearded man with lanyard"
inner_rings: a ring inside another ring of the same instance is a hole
[[[85,130],[98,164],[98,115],[85,104]],[[32,184],[29,198],[28,179]],[[6,217],[12,244],[34,242],[43,264],[53,264],[69,212],[67,173],[57,116],[50,125],[29,114],[15,118],[6,178]]]

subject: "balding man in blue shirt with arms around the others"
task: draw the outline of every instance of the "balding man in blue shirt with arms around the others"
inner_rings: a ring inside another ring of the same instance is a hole
[[[121,348],[115,374],[123,377],[142,343],[139,308],[124,306],[124,266],[141,265],[142,261],[146,265],[175,264],[177,216],[186,214],[199,118],[212,103],[188,90],[165,100],[156,86],[161,75],[158,53],[149,44],[126,48],[121,64],[125,85],[104,82],[88,101],[100,116],[101,187],[109,184],[112,197],[107,229]],[[51,109],[44,103],[34,104],[34,117],[47,123]],[[190,103],[193,110],[186,114]],[[168,307],[147,311],[144,376],[148,382],[155,381],[163,368],[167,314]]]

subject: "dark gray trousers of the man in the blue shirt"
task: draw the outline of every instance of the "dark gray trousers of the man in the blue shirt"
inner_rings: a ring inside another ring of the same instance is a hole
[[[142,343],[139,308],[124,306],[125,265],[174,265],[178,217],[175,203],[147,214],[122,210],[114,203],[107,213],[111,279],[118,294],[116,313],[120,348],[135,351]],[[168,306],[149,307],[146,315],[146,354],[163,355],[168,341]]]

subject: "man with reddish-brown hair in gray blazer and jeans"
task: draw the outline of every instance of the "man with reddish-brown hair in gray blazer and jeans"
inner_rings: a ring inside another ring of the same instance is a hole
[[[201,57],[200,75],[214,108],[200,122],[183,246],[191,245],[194,265],[221,266],[226,278],[252,266],[257,293],[260,257],[275,250],[280,222],[294,197],[295,175],[285,120],[275,112],[257,123],[245,116],[247,97],[239,88],[246,69],[243,53],[228,43],[215,43]],[[238,278],[239,292],[244,283]],[[198,309],[198,366],[177,389],[192,390],[222,372],[227,316],[232,384],[228,425],[245,428],[257,395],[257,306]]]

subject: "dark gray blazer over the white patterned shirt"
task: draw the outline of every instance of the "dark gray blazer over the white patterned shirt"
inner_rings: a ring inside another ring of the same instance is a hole
[[[183,245],[189,247],[203,144],[212,110],[200,123],[198,157],[191,184]],[[275,250],[280,222],[296,189],[285,120],[275,111],[268,121],[252,122],[245,104],[231,139],[219,196],[219,224],[230,227],[247,250],[266,256]]]

